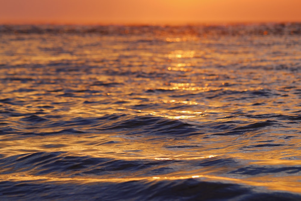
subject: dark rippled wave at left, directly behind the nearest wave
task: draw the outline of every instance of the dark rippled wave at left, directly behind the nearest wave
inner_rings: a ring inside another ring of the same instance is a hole
[[[49,146],[49,145],[48,145]],[[57,146],[57,145],[56,145]],[[61,145],[63,147],[63,145]],[[181,160],[122,160],[92,157],[76,152],[36,152],[8,156],[0,159],[1,174],[14,172],[30,175],[56,175],[62,177],[105,175],[116,177],[120,171],[128,176],[150,176],[174,172],[166,165]]]

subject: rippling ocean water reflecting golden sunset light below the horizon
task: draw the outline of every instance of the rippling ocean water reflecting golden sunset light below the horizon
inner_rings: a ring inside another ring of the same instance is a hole
[[[301,200],[300,36],[0,26],[0,200]]]

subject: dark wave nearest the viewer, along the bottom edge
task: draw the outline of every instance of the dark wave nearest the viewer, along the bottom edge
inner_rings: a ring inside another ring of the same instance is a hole
[[[21,177],[19,177],[21,178]],[[37,177],[39,178],[39,177]],[[25,177],[26,179],[26,177]],[[41,177],[39,180],[2,181],[2,200],[275,200],[299,201],[301,196],[263,187],[235,184],[227,181],[203,181],[190,179],[135,179],[129,181],[54,180]],[[53,181],[54,180],[54,181]],[[68,192],[68,193],[66,193]]]

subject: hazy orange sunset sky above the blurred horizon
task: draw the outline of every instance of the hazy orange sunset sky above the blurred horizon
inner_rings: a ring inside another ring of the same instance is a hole
[[[0,24],[301,22],[301,0],[0,0]]]

